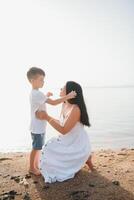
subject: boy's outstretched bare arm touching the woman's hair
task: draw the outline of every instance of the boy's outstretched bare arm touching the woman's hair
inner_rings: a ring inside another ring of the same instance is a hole
[[[46,100],[46,103],[48,103],[48,104],[50,104],[50,105],[58,105],[58,104],[60,104],[60,103],[62,103],[62,102],[64,102],[64,101],[67,101],[68,99],[73,99],[73,98],[75,98],[75,97],[76,97],[76,92],[75,92],[75,91],[72,91],[72,92],[70,92],[69,94],[67,94],[66,96],[61,97],[61,98],[59,98],[59,99],[53,100],[53,99],[48,98],[48,99]]]

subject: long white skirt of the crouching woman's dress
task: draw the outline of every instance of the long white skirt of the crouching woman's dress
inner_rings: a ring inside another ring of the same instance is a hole
[[[61,119],[64,124],[64,119]],[[41,153],[40,171],[45,182],[62,182],[73,178],[91,154],[90,138],[77,122],[65,135],[50,139]]]

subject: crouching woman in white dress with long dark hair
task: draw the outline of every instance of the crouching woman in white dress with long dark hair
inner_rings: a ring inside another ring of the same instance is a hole
[[[37,112],[61,134],[50,139],[42,150],[40,170],[45,182],[52,183],[73,178],[86,162],[92,169],[91,147],[85,126],[90,126],[81,86],[69,81],[61,89],[60,96],[75,91],[74,99],[63,103],[61,119],[57,120],[43,111]]]

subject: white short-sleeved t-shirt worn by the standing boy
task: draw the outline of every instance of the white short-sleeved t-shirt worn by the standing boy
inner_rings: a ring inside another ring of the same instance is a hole
[[[30,123],[30,131],[34,134],[41,134],[46,132],[46,120],[37,119],[35,116],[35,112],[37,110],[46,111],[46,100],[47,96],[45,96],[42,92],[36,89],[32,89],[30,94],[30,104],[31,104],[31,123]]]

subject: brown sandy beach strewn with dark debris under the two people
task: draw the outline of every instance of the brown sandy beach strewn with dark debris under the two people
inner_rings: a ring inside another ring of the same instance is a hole
[[[0,153],[0,200],[134,200],[134,149],[93,153],[73,179],[45,184],[28,174],[29,153]]]

